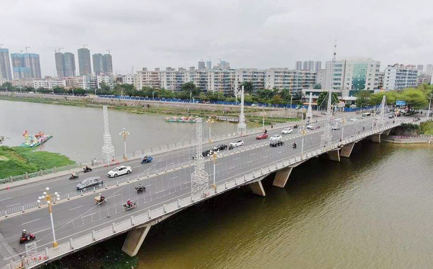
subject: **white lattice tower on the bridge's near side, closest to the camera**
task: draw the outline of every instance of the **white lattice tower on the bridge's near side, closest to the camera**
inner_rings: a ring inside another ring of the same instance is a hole
[[[191,174],[191,196],[200,194],[205,197],[208,192],[209,175],[204,170],[203,129],[202,118],[196,118],[196,157],[194,158],[194,172]]]

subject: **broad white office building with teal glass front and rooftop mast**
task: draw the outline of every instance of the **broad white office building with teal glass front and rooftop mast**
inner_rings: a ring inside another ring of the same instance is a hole
[[[377,89],[379,83],[380,61],[371,58],[352,58],[325,65],[325,85],[322,89],[338,90],[342,97],[354,96],[357,90]]]

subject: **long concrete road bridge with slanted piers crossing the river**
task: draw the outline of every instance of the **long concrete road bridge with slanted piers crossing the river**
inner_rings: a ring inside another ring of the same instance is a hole
[[[244,185],[254,194],[265,196],[261,183],[265,177],[275,174],[273,186],[283,188],[292,170],[303,162],[320,155],[327,155],[331,161],[349,158],[357,142],[370,139],[380,143],[382,134],[387,135],[395,126],[409,121],[384,116],[382,111],[380,120],[362,118],[338,130],[331,129],[329,119],[317,121],[316,129],[306,132],[305,128],[299,128],[292,134],[282,135],[284,144],[277,147],[271,147],[268,140],[256,140],[258,131],[243,132],[213,143],[197,139],[197,145],[182,145],[153,154],[151,163],[140,164],[140,160],[122,163],[133,168],[130,175],[109,179],[106,174],[112,167],[94,169],[85,175],[99,176],[104,184],[85,191],[76,191],[78,182],[65,176],[3,190],[0,192],[0,268],[35,268],[121,233],[128,233],[122,250],[134,256],[153,225],[185,208]],[[197,137],[201,132],[199,122]],[[287,125],[270,128],[268,134],[281,134]],[[323,143],[327,136],[330,139]],[[238,139],[244,145],[221,150],[203,160],[192,158],[202,148]],[[298,146],[293,148],[292,143]],[[138,183],[146,187],[144,193],[136,192]],[[53,197],[56,197],[54,192],[59,196],[51,199],[50,205],[46,201],[36,202],[46,187]],[[94,197],[98,193],[103,193],[108,202],[95,205]],[[124,211],[122,204],[127,199],[134,200],[137,208]],[[53,225],[47,208],[50,211],[52,208]],[[27,243],[25,247],[18,242],[23,229],[36,234],[36,244]]]

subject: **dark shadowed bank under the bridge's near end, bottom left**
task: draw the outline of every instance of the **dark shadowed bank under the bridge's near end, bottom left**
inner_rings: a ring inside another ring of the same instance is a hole
[[[138,258],[121,251],[124,236],[99,243],[42,267],[43,269],[131,269]]]

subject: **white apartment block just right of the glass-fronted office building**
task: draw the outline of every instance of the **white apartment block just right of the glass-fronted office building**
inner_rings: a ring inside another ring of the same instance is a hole
[[[416,86],[418,70],[414,65],[389,65],[383,76],[384,90],[402,90]]]

